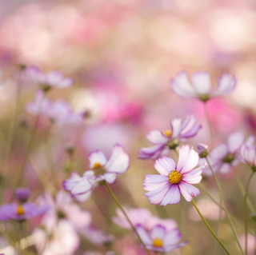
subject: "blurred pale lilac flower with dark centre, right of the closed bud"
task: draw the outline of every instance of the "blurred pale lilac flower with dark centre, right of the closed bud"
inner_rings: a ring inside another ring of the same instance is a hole
[[[253,142],[251,137],[246,140],[249,145]],[[244,143],[244,135],[241,132],[231,133],[227,138],[227,144],[221,144],[211,149],[209,162],[214,173],[229,173],[230,169],[242,161],[241,147]],[[211,175],[209,165],[206,165],[203,173]]]

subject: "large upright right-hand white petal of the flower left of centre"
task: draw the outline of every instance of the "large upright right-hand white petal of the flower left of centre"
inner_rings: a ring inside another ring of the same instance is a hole
[[[108,172],[124,173],[130,164],[128,154],[122,149],[121,145],[114,145],[111,157],[106,163]]]

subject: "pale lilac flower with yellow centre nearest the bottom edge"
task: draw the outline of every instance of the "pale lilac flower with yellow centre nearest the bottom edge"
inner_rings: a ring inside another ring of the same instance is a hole
[[[178,229],[166,230],[163,225],[156,225],[150,233],[142,225],[136,225],[138,235],[146,245],[147,249],[160,253],[168,253],[171,250],[178,249],[186,245],[187,241],[179,242],[182,234]]]

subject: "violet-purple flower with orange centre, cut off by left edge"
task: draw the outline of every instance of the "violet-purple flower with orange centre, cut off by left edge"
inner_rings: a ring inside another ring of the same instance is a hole
[[[6,204],[0,207],[0,221],[23,221],[31,217],[36,217],[46,213],[50,206],[37,206],[31,202],[26,202],[22,205],[17,203]]]

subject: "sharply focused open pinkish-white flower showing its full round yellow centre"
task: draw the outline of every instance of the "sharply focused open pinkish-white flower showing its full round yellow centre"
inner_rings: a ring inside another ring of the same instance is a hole
[[[197,184],[202,180],[202,168],[198,165],[198,153],[190,149],[189,145],[183,145],[179,149],[178,165],[170,157],[159,158],[154,168],[161,175],[146,174],[144,189],[149,191],[145,196],[150,203],[157,205],[178,204],[181,193],[186,201],[191,201],[193,196],[199,195],[199,190],[191,184]]]

